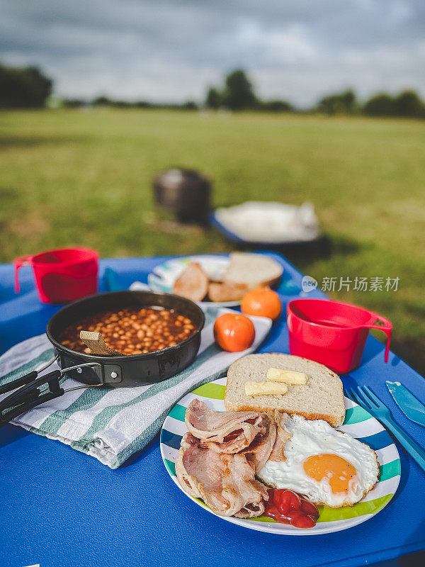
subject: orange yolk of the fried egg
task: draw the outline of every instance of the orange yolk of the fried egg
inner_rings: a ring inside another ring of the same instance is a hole
[[[329,480],[333,493],[348,492],[348,482],[357,474],[351,463],[338,455],[322,454],[312,455],[304,461],[304,470],[307,476],[315,481],[322,478]]]

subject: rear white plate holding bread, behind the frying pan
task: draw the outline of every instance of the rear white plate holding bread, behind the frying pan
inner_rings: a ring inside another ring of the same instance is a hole
[[[147,276],[149,287],[153,291],[173,293],[174,282],[190,262],[198,262],[210,279],[220,279],[229,265],[229,257],[200,254],[171,259],[156,266],[154,271]],[[200,301],[198,303],[217,307],[235,307],[241,304],[240,301]]]

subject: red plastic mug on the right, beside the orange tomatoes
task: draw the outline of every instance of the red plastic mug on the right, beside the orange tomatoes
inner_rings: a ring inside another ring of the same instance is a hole
[[[288,303],[287,322],[290,354],[320,362],[338,374],[360,364],[369,329],[387,335],[388,360],[392,324],[368,309],[324,299],[295,299]]]

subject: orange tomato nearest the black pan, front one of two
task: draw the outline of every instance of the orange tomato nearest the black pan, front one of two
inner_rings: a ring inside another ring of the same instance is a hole
[[[251,319],[237,313],[224,313],[214,323],[215,342],[228,352],[248,349],[255,339]]]

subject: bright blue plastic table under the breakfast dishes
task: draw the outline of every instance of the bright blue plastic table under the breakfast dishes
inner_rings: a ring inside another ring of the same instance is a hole
[[[283,301],[299,293],[301,274],[282,257]],[[123,287],[147,281],[165,258],[105,259]],[[13,270],[0,266],[0,350],[38,335],[57,306],[41,305],[30,269],[13,293]],[[320,296],[314,291],[310,296]],[[385,315],[385,313],[383,314]],[[285,320],[261,352],[288,352]],[[404,430],[425,444],[425,429],[402,414],[385,380],[404,383],[425,402],[424,378],[369,337],[361,367],[344,382],[368,383]],[[368,522],[314,537],[278,536],[220,520],[186,498],[162,464],[158,439],[111,471],[85,454],[6,425],[0,430],[2,567],[359,566],[425,549],[425,473],[399,447],[402,478],[395,498]],[[417,558],[417,556],[416,556]],[[413,561],[413,560],[412,560]],[[422,557],[422,561],[424,561]],[[413,564],[413,563],[409,563]]]

